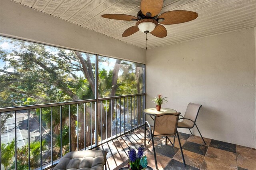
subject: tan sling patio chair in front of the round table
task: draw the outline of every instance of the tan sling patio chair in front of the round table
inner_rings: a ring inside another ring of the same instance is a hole
[[[146,146],[146,130],[148,130],[150,133],[150,138],[152,139],[152,146],[153,146],[156,169],[157,169],[157,160],[156,160],[156,151],[155,151],[155,146],[154,146],[154,136],[165,136],[165,144],[167,144],[167,139],[170,141],[168,136],[176,136],[176,134],[177,134],[178,141],[180,144],[180,136],[179,136],[178,130],[177,130],[179,116],[180,116],[180,113],[155,114],[154,115],[153,132],[152,132],[152,128],[151,128],[150,124],[148,123],[148,121],[145,122],[144,145]],[[146,128],[146,125],[148,125],[148,128]],[[171,144],[172,144],[172,142],[171,142]],[[174,144],[172,144],[172,146],[174,146]],[[180,144],[180,151],[182,154],[183,164],[184,164],[184,166],[186,166],[181,144]]]

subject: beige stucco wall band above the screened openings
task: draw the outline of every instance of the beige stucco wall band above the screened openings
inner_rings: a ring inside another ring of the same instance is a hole
[[[146,63],[145,49],[10,0],[0,0],[0,35]]]

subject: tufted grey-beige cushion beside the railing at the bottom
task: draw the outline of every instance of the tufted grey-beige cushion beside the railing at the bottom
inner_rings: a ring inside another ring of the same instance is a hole
[[[69,152],[54,170],[104,170],[107,152],[104,150],[81,150]]]

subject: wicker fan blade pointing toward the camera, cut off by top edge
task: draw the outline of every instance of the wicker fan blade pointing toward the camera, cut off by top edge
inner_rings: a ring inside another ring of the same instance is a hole
[[[163,0],[141,0],[140,10],[147,17],[157,16],[163,7]]]

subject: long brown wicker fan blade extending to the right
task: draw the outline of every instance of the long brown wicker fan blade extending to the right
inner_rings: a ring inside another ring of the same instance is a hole
[[[170,24],[180,24],[183,22],[192,21],[197,17],[198,17],[198,14],[192,11],[169,11],[169,12],[164,12],[163,14],[158,16],[158,19],[164,18],[164,21],[159,23],[170,25]]]

